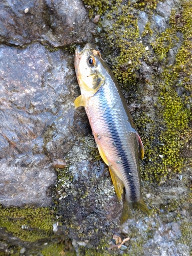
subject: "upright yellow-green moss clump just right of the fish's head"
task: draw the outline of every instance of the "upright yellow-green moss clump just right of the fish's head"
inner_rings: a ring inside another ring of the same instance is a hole
[[[112,32],[109,31],[107,36],[110,46],[119,51],[118,56],[112,60],[113,72],[123,86],[129,86],[136,83],[135,72],[139,69],[140,60],[145,56],[146,50],[139,40],[137,18],[132,6],[122,6],[120,13],[117,8],[113,10],[113,17],[114,14],[116,22],[113,24]]]

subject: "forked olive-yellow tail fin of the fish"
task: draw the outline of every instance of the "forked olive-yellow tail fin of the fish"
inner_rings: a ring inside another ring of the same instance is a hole
[[[128,202],[125,199],[123,203],[123,210],[122,210],[121,219],[120,219],[121,224],[123,224],[125,221],[127,221],[132,217],[133,209],[141,210],[143,212],[146,212],[147,214],[149,214],[150,212],[143,198],[141,198],[139,201],[136,201],[136,202]]]

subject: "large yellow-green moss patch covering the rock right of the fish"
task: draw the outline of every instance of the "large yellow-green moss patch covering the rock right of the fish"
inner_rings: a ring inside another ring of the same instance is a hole
[[[192,102],[192,10],[190,1],[183,2],[179,15],[173,10],[168,28],[163,33],[156,33],[150,46],[149,36],[155,31],[153,32],[149,21],[140,37],[135,8],[144,8],[145,11],[153,9],[157,1],[147,1],[148,4],[145,2],[128,2],[120,7],[121,1],[118,1],[108,14],[108,19],[114,23],[113,29],[106,29],[106,38],[111,46],[110,62],[113,72],[125,97],[130,104],[134,102],[142,106],[142,109],[132,112],[145,147],[145,158],[141,164],[142,176],[145,180],[153,180],[155,177],[161,181],[165,177],[170,178],[173,173],[181,172],[192,150],[189,125]],[[183,42],[179,39],[178,32],[183,33]],[[172,64],[169,62],[170,49],[177,52]],[[141,72],[143,61],[151,68],[148,74]],[[184,91],[182,95],[177,93],[178,87]],[[151,99],[151,104],[145,98]],[[188,153],[185,153],[186,147]]]

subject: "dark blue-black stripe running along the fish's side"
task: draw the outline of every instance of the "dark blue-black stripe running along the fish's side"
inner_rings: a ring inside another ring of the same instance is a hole
[[[129,160],[127,159],[126,153],[123,150],[123,145],[121,143],[121,138],[119,136],[119,133],[116,129],[116,126],[114,125],[115,121],[113,118],[113,113],[111,112],[110,108],[108,108],[108,107],[106,108],[106,103],[108,103],[108,102],[105,97],[103,88],[101,88],[101,90],[99,90],[98,94],[99,94],[99,107],[100,107],[101,111],[103,112],[103,118],[104,118],[104,120],[106,120],[106,124],[108,125],[108,129],[110,131],[112,140],[115,142],[116,147],[118,149],[117,155],[119,157],[121,157],[121,159],[122,159],[124,174],[126,175],[126,179],[128,181],[129,187],[130,187],[129,197],[132,201],[137,201],[138,200],[137,188],[138,188],[139,184],[138,185],[136,184],[137,187],[134,184],[134,174],[130,168]]]

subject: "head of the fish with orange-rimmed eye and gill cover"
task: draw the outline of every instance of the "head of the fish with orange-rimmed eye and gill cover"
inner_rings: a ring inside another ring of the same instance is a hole
[[[106,70],[100,52],[91,44],[82,50],[78,46],[75,51],[75,72],[81,94],[92,96],[105,81]]]

